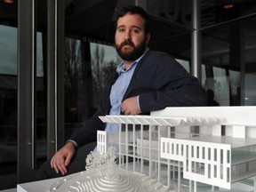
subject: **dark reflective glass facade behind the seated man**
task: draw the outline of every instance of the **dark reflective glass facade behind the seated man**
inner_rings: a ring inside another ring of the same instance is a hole
[[[111,1],[111,4],[99,1],[92,6],[82,1],[66,2],[65,140],[95,112],[109,73],[121,61],[113,47],[114,8],[131,4],[131,1]],[[153,30],[149,48],[171,53],[190,73],[192,1],[145,2],[139,5],[150,14]],[[205,92],[209,91],[209,97],[215,100],[209,105],[255,106],[256,2],[234,1],[229,6],[215,0],[200,3],[202,64],[197,65],[202,68]],[[12,4],[0,2],[0,178],[10,176],[8,180],[12,180],[3,181],[0,190],[14,188],[17,177],[17,4],[13,6],[12,9]],[[47,158],[47,15],[46,5],[42,7],[37,12],[40,25],[36,33],[36,168]],[[104,20],[97,12],[106,15]]]

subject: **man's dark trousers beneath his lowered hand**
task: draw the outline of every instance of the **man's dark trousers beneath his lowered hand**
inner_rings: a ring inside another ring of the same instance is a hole
[[[86,144],[80,148],[76,148],[76,154],[73,156],[70,164],[67,167],[68,174],[75,172],[83,172],[85,170],[85,159],[87,155],[96,147],[97,142]],[[57,177],[63,177],[61,172],[58,174],[51,167],[51,160],[44,162],[37,173],[37,180],[46,180]]]

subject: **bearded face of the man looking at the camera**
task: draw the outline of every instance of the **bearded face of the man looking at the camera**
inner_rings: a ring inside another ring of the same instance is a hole
[[[144,20],[139,14],[127,13],[117,20],[115,36],[116,52],[123,60],[137,60],[149,41],[144,31]]]

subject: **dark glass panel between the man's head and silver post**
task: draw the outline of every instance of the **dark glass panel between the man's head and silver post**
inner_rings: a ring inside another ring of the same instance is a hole
[[[191,57],[192,4],[190,0],[138,1],[147,4],[151,37],[148,47],[169,52],[173,57],[189,60]],[[186,68],[188,69],[188,68]]]

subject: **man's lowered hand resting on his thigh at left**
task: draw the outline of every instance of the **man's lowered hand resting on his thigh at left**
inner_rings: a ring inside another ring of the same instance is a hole
[[[73,142],[68,142],[63,148],[60,148],[54,156],[52,156],[51,166],[55,172],[61,172],[62,175],[67,173],[67,166],[76,152]]]

